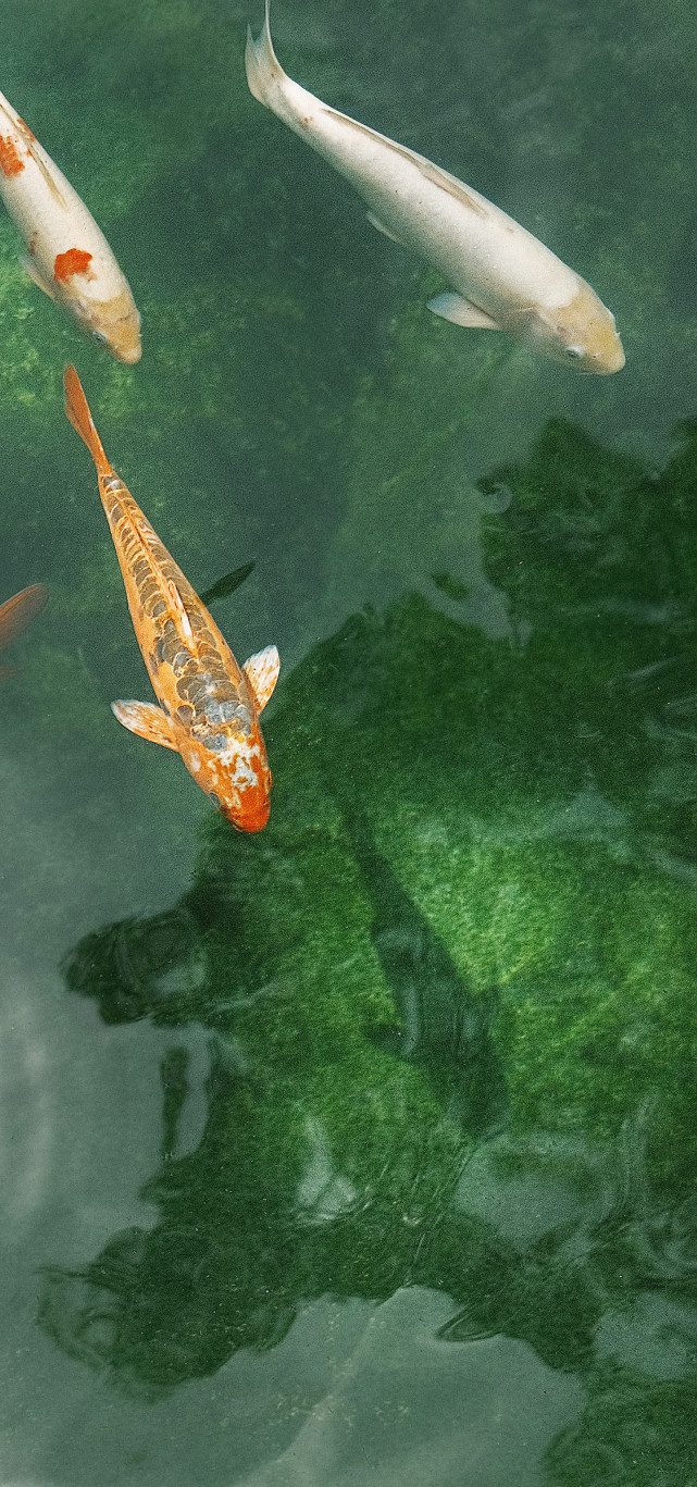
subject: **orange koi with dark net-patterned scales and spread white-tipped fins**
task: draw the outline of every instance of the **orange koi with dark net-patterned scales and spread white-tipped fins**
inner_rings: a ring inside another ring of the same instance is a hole
[[[278,680],[275,645],[242,668],[181,568],[108,462],[80,379],[65,367],[65,412],[97,465],[135,638],[161,703],[113,702],[123,727],[181,754],[238,831],[262,831],[272,785],[259,727]]]

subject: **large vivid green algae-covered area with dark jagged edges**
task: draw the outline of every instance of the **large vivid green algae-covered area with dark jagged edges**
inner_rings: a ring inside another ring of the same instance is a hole
[[[559,1481],[605,1438],[600,1317],[648,1276],[679,1306],[694,1246],[685,758],[682,812],[661,804],[694,639],[678,458],[651,507],[648,474],[571,425],[493,471],[484,494],[505,476],[511,500],[486,520],[492,574],[536,532],[513,636],[458,623],[446,578],[444,610],[412,593],[349,619],[269,708],[266,831],[211,815],[178,904],[67,958],[106,1020],[172,1029],[159,1221],[46,1285],[43,1325],[74,1356],[158,1395],[270,1346],[308,1298],[429,1286],[455,1301],[452,1341],[505,1331],[584,1377]],[[657,556],[612,605],[617,543],[630,572],[638,544]],[[180,1152],[190,1023],[208,1115]]]

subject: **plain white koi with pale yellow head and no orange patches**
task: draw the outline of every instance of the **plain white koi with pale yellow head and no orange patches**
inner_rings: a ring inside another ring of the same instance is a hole
[[[355,187],[369,220],[428,259],[452,288],[428,308],[458,326],[505,330],[580,372],[609,373],[624,351],[590,284],[505,211],[415,150],[337,113],[294,83],[265,28],[247,37],[247,82],[259,103]]]

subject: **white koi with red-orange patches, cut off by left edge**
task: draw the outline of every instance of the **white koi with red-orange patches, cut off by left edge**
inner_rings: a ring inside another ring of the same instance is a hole
[[[30,278],[117,361],[140,361],[140,315],[104,233],[0,94],[0,193],[28,248]]]

